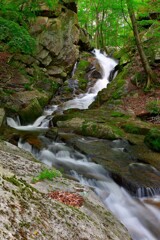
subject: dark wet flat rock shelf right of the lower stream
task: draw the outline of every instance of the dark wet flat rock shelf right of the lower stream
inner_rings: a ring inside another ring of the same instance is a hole
[[[85,138],[73,133],[61,132],[59,137],[86,154],[93,162],[101,164],[115,182],[131,194],[139,197],[159,194],[160,156],[158,153],[152,155],[147,148],[143,149],[143,141],[135,146],[125,140]],[[99,176],[83,174],[89,179],[99,179]]]

